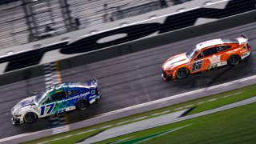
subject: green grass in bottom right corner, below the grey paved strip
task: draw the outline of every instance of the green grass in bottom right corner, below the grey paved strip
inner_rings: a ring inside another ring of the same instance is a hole
[[[126,134],[98,143],[117,142],[120,139],[132,138],[125,142],[132,143],[136,138],[145,138],[152,134],[163,133],[179,126],[187,126],[169,134],[150,138],[141,143],[256,143],[256,103],[224,110],[214,114],[158,126],[150,130]]]

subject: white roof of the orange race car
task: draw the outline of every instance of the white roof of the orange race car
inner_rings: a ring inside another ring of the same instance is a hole
[[[197,50],[202,50],[205,47],[208,46],[214,46],[214,45],[221,45],[224,43],[239,43],[237,39],[231,39],[231,38],[217,38],[217,39],[212,39],[206,42],[201,42],[196,45]]]

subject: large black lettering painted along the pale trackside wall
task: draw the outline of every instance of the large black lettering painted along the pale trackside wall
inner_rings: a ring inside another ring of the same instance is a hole
[[[133,26],[121,27],[116,30],[109,30],[104,33],[94,34],[89,37],[74,39],[66,42],[58,42],[51,46],[45,46],[40,49],[26,51],[21,54],[10,55],[0,58],[0,63],[8,62],[3,72],[18,70],[29,66],[36,66],[42,60],[46,52],[60,50],[60,54],[82,54],[91,50],[102,49],[107,46],[114,46],[125,42],[130,42],[145,38],[150,34],[164,34],[173,30],[194,26],[198,18],[227,18],[234,14],[241,14],[246,11],[255,10],[256,2],[248,0],[232,0],[228,2],[225,9],[198,8],[186,11],[180,14],[174,14],[166,17],[163,23],[150,22]],[[99,42],[102,38],[110,37],[116,34],[126,34],[122,38],[113,39],[108,42]],[[72,43],[69,43],[71,42]],[[65,57],[65,55],[64,55]]]

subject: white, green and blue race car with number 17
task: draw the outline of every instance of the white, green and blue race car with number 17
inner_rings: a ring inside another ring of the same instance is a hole
[[[35,122],[38,118],[63,114],[70,110],[86,110],[101,98],[96,79],[66,82],[46,88],[40,94],[23,99],[11,109],[14,125]]]

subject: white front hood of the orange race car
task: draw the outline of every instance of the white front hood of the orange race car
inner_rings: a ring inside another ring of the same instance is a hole
[[[186,58],[186,53],[177,54],[167,59],[167,61],[162,64],[162,69],[167,70],[170,67],[179,66],[187,62],[189,62],[189,59]]]

